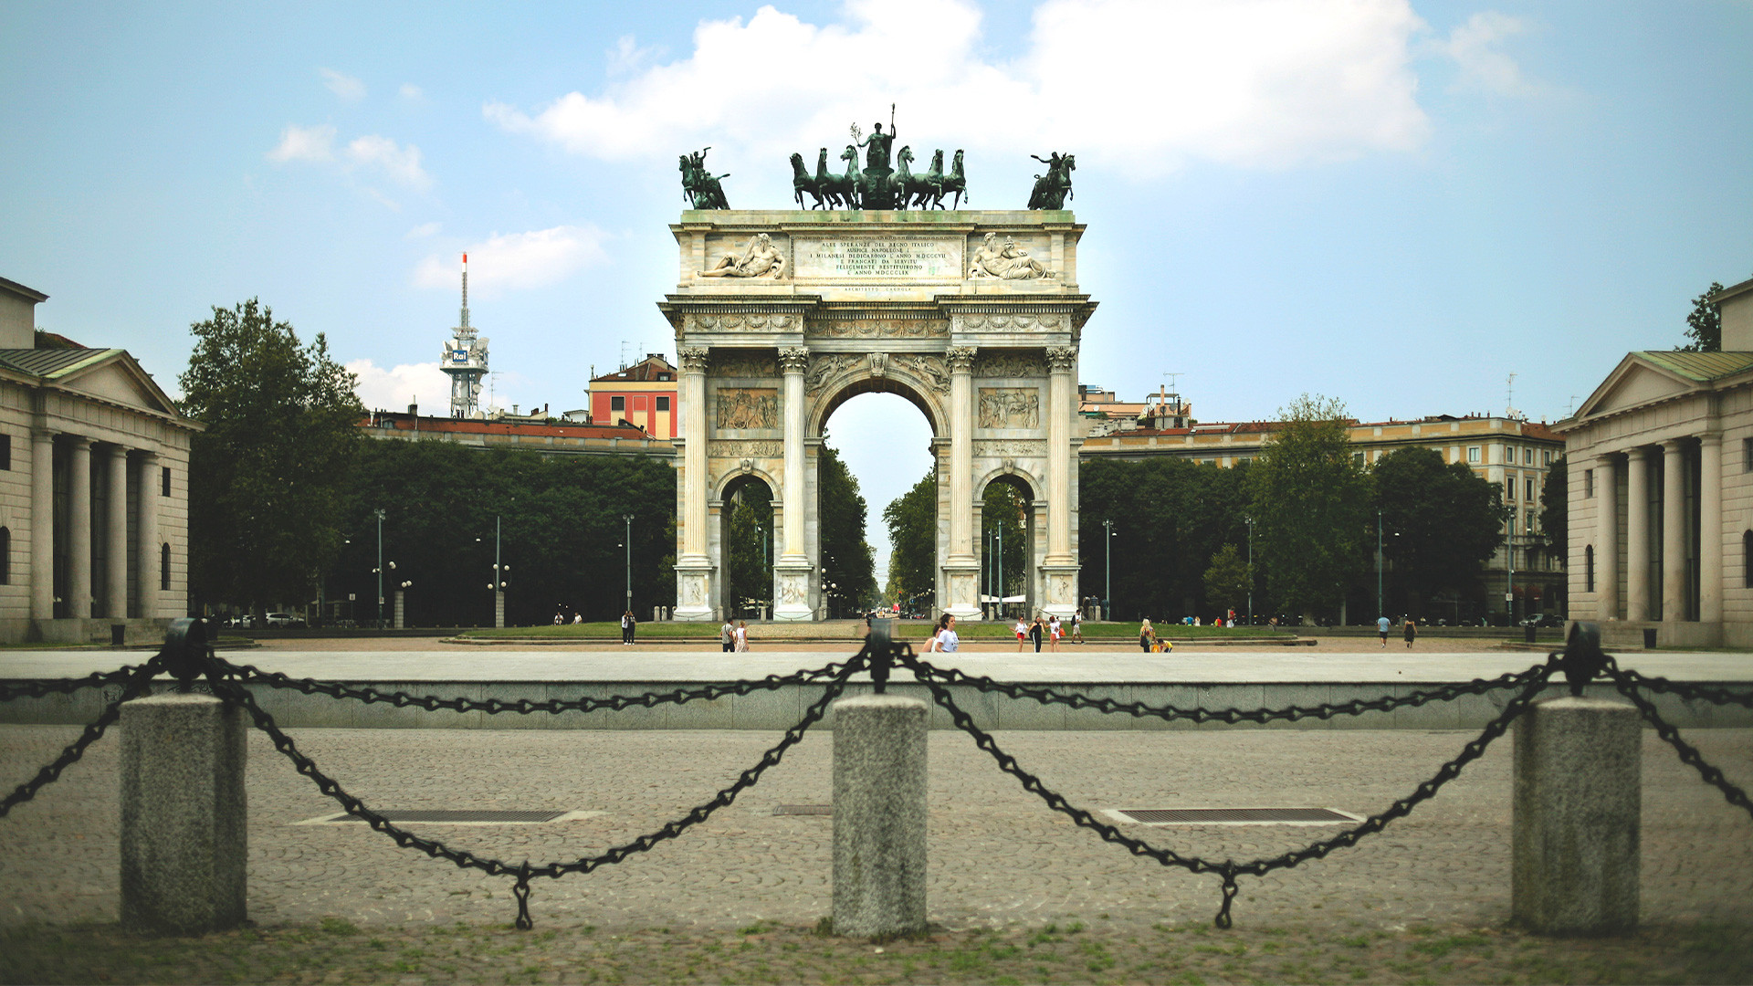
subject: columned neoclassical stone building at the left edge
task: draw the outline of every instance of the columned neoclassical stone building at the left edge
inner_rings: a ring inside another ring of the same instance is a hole
[[[161,639],[198,425],[123,349],[39,347],[44,300],[0,277],[0,640]]]

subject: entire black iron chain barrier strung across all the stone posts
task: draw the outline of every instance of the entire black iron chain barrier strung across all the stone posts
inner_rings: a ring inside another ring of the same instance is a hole
[[[515,925],[517,928],[528,930],[533,926],[529,918],[529,881],[536,877],[559,879],[568,874],[589,874],[598,867],[621,863],[636,853],[647,853],[661,842],[677,839],[694,825],[706,821],[715,811],[733,804],[740,793],[756,786],[770,767],[778,765],[785,753],[798,746],[812,726],[822,721],[829,705],[841,693],[845,693],[855,674],[868,672],[875,691],[884,693],[894,668],[912,672],[913,677],[931,693],[931,700],[950,716],[955,728],[968,733],[975,740],[975,746],[989,753],[999,770],[1015,777],[1026,791],[1040,797],[1052,811],[1068,816],[1076,826],[1094,832],[1104,842],[1125,847],[1134,856],[1155,860],[1159,865],[1180,867],[1190,874],[1217,875],[1222,881],[1222,904],[1218,905],[1215,916],[1215,925],[1218,928],[1229,928],[1232,925],[1231,904],[1236,898],[1239,877],[1264,877],[1273,870],[1295,867],[1308,860],[1324,860],[1334,849],[1357,846],[1362,839],[1385,830],[1392,821],[1409,816],[1422,802],[1434,798],[1444,784],[1458,777],[1462,768],[1483,756],[1487,747],[1502,737],[1509,730],[1511,723],[1529,711],[1534,700],[1548,688],[1548,684],[1551,684],[1551,679],[1557,674],[1564,674],[1572,695],[1581,695],[1583,686],[1592,681],[1611,681],[1613,686],[1637,707],[1639,714],[1655,728],[1657,735],[1679,753],[1679,760],[1683,763],[1699,770],[1700,777],[1721,791],[1723,798],[1730,805],[1741,807],[1753,816],[1753,800],[1748,798],[1746,791],[1732,784],[1720,768],[1704,760],[1697,747],[1683,740],[1679,737],[1679,730],[1662,719],[1657,712],[1655,702],[1646,697],[1646,693],[1676,695],[1685,702],[1742,705],[1753,709],[1753,693],[1735,693],[1721,688],[1685,684],[1620,668],[1611,656],[1602,653],[1599,632],[1590,623],[1574,625],[1565,647],[1562,651],[1550,653],[1544,663],[1494,679],[1474,679],[1469,682],[1446,684],[1399,697],[1373,700],[1357,698],[1341,704],[1285,705],[1281,709],[1182,709],[1175,705],[1146,705],[1143,702],[1090,698],[1078,693],[1061,693],[1052,688],[1006,684],[983,675],[969,675],[955,668],[940,668],[920,660],[910,644],[891,640],[880,630],[873,632],[864,647],[847,661],[834,661],[820,668],[798,670],[787,675],[766,675],[763,679],[715,682],[698,688],[677,688],[671,691],[650,691],[642,695],[610,695],[570,700],[550,698],[547,702],[531,702],[528,698],[515,702],[505,702],[500,698],[479,700],[466,697],[440,698],[435,695],[412,695],[407,691],[354,688],[333,681],[295,679],[280,672],[265,672],[251,665],[235,665],[214,653],[207,639],[205,623],[179,619],[172,625],[172,630],[165,639],[165,647],[153,660],[142,665],[130,665],[79,679],[44,679],[0,684],[0,702],[12,698],[44,698],[47,695],[72,695],[86,688],[121,686],[117,698],[103,705],[98,718],[84,726],[84,732],[75,742],[68,744],[58,758],[44,765],[35,777],[19,784],[11,795],[0,800],[0,818],[7,816],[14,805],[32,800],[39,790],[54,782],[61,772],[67,770],[67,767],[77,763],[79,758],[84,756],[84,751],[121,718],[121,705],[124,702],[151,691],[154,677],[161,674],[175,677],[179,691],[191,691],[196,679],[205,679],[207,686],[217,698],[242,709],[251,718],[251,723],[254,723],[254,726],[273,742],[273,747],[293,763],[295,770],[310,777],[317,790],[340,804],[347,814],[363,819],[372,830],[384,833],[403,849],[426,853],[435,860],[445,860],[459,868],[475,868],[494,877],[510,877],[512,895],[517,898]],[[614,846],[594,856],[580,856],[577,860],[552,863],[531,863],[529,860],[510,863],[507,860],[494,860],[466,849],[454,849],[438,839],[428,839],[400,828],[359,798],[349,795],[338,781],[324,774],[314,760],[298,749],[298,744],[286,735],[286,730],[273,721],[273,716],[270,716],[256,702],[256,697],[249,691],[249,688],[245,688],[265,686],[275,689],[293,689],[303,695],[326,695],[330,698],[365,704],[387,702],[398,709],[417,707],[431,712],[479,711],[489,716],[505,712],[517,712],[521,716],[536,712],[557,716],[561,712],[624,711],[633,707],[652,709],[664,704],[680,705],[692,700],[710,702],[729,695],[742,697],[754,691],[773,691],[805,684],[824,686],[820,698],[805,709],[803,718],[798,719],[794,726],[785,730],[784,737],[773,747],[761,754],[761,758],[752,767],[743,770],[735,782],[722,788],[710,800],[689,809],[684,816],[664,823],[656,832],[640,835],[631,842]],[[1201,856],[1183,856],[1173,849],[1152,846],[1141,839],[1132,839],[1117,826],[1099,821],[1089,811],[1073,805],[1064,795],[1050,790],[1040,777],[1027,772],[1015,756],[1004,753],[997,746],[992,733],[975,725],[973,716],[955,702],[950,691],[952,686],[973,688],[980,693],[1004,695],[1011,700],[1031,700],[1041,705],[1057,704],[1071,709],[1094,709],[1101,714],[1127,714],[1134,718],[1157,718],[1162,721],[1225,725],[1266,725],[1273,721],[1295,723],[1302,719],[1362,716],[1366,712],[1392,712],[1395,709],[1418,707],[1430,702],[1453,702],[1464,695],[1488,695],[1494,691],[1508,691],[1509,698],[1504,702],[1502,711],[1492,718],[1480,735],[1469,740],[1460,753],[1455,754],[1455,758],[1443,763],[1429,781],[1420,782],[1409,795],[1395,800],[1385,811],[1366,818],[1353,828],[1346,828],[1331,839],[1309,842],[1301,849],[1292,849],[1271,858],[1238,861],[1232,858],[1208,860]]]

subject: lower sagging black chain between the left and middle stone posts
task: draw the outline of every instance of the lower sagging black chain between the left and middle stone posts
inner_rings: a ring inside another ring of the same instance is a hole
[[[664,823],[663,828],[659,828],[657,832],[640,835],[633,842],[628,842],[624,846],[614,846],[596,856],[580,856],[570,863],[543,863],[536,867],[531,867],[528,860],[524,860],[521,865],[510,865],[501,860],[477,856],[475,853],[470,853],[466,849],[452,849],[436,839],[422,839],[405,828],[396,826],[382,814],[368,809],[365,802],[349,795],[333,777],[323,774],[317,768],[316,761],[298,751],[298,746],[293,742],[293,739],[275,725],[273,716],[263,711],[261,705],[256,704],[254,695],[251,695],[249,689],[244,688],[238,681],[230,677],[221,677],[219,674],[210,675],[209,681],[212,682],[214,693],[228,702],[237,702],[256,723],[256,728],[265,732],[268,739],[273,740],[273,747],[282,754],[286,754],[286,758],[293,761],[293,767],[300,774],[310,777],[319,791],[335,798],[347,811],[347,814],[365,819],[365,823],[370,825],[373,830],[382,832],[384,835],[393,839],[396,846],[403,849],[419,849],[435,860],[447,860],[451,863],[456,863],[458,867],[475,868],[487,875],[510,874],[512,877],[515,877],[512,893],[517,897],[517,926],[528,930],[533,926],[528,907],[531,877],[559,879],[564,874],[587,874],[605,863],[619,863],[635,853],[645,853],[654,846],[657,846],[659,842],[675,839],[677,835],[682,835],[682,832],[685,832],[687,828],[705,821],[706,818],[712,816],[712,812],[735,802],[736,795],[740,795],[743,790],[754,786],[768,767],[777,765],[785,756],[787,749],[803,740],[803,735],[810,730],[810,726],[820,721],[822,716],[827,712],[829,702],[838,698],[840,693],[845,689],[847,679],[850,679],[852,674],[861,667],[862,661],[859,660],[840,665],[838,675],[827,681],[822,697],[817,698],[805,711],[803,719],[799,719],[798,725],[794,725],[792,728],[785,730],[785,737],[780,739],[777,746],[768,749],[754,767],[743,770],[735,784],[720,790],[706,804],[696,805],[685,816]],[[764,682],[747,682],[747,684],[761,686]],[[538,704],[538,707],[543,705],[547,704]],[[514,709],[514,711],[528,712],[535,709]],[[543,707],[542,711],[547,709]]]

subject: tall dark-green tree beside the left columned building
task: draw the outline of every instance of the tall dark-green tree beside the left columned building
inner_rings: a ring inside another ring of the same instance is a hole
[[[191,602],[302,604],[342,540],[354,375],[256,298],[189,330],[182,412],[205,425],[189,447]]]

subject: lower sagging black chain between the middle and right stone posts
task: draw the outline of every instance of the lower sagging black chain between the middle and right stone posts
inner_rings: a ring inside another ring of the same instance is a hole
[[[1087,812],[1087,811],[1073,805],[1071,802],[1068,802],[1064,798],[1064,795],[1059,795],[1057,791],[1052,791],[1050,788],[1047,788],[1047,784],[1041,782],[1040,777],[1036,777],[1034,774],[1029,774],[1027,770],[1024,770],[1017,763],[1015,756],[1011,756],[1011,754],[1004,753],[1003,749],[999,749],[999,746],[992,739],[992,735],[987,733],[985,730],[982,730],[980,726],[976,726],[975,721],[973,721],[973,716],[969,716],[968,712],[964,712],[955,704],[955,700],[950,697],[950,689],[941,681],[938,681],[938,677],[941,677],[941,674],[943,674],[941,670],[938,672],[938,675],[927,675],[927,674],[922,674],[926,670],[924,668],[924,661],[903,660],[901,663],[905,667],[913,668],[913,674],[919,675],[920,681],[926,684],[926,688],[931,689],[933,700],[938,705],[941,705],[950,714],[950,719],[955,723],[955,728],[959,728],[964,733],[968,733],[969,737],[973,737],[975,746],[978,746],[980,749],[987,751],[992,756],[992,760],[997,761],[999,770],[1003,770],[1003,772],[1017,777],[1017,781],[1022,782],[1022,788],[1026,791],[1034,793],[1043,802],[1047,802],[1047,807],[1050,807],[1050,809],[1054,809],[1054,811],[1057,811],[1057,812],[1071,818],[1071,821],[1076,823],[1078,826],[1089,828],[1089,830],[1096,832],[1103,840],[1124,846],[1134,856],[1148,856],[1148,858],[1155,860],[1157,863],[1160,863],[1164,867],[1182,867],[1182,868],[1185,868],[1190,874],[1218,874],[1224,879],[1224,884],[1222,884],[1224,886],[1224,902],[1218,907],[1218,912],[1217,912],[1217,918],[1215,918],[1215,925],[1218,928],[1229,928],[1231,926],[1229,907],[1231,907],[1231,902],[1236,898],[1236,877],[1238,875],[1250,874],[1250,875],[1260,877],[1260,875],[1266,875],[1266,874],[1269,874],[1269,872],[1273,872],[1276,868],[1295,867],[1297,863],[1301,863],[1304,860],[1324,858],[1329,853],[1332,853],[1334,849],[1355,846],[1366,835],[1373,835],[1376,832],[1381,832],[1383,828],[1387,828],[1387,825],[1390,821],[1394,821],[1397,818],[1404,818],[1420,802],[1425,802],[1425,800],[1436,797],[1437,790],[1441,790],[1443,784],[1446,784],[1446,782],[1453,781],[1457,775],[1460,775],[1462,767],[1466,767],[1467,763],[1478,760],[1485,753],[1485,747],[1492,744],[1492,740],[1495,740],[1497,737],[1504,735],[1504,732],[1509,728],[1509,723],[1513,723],[1518,716],[1522,716],[1523,712],[1527,712],[1529,705],[1532,705],[1534,698],[1546,688],[1546,682],[1548,682],[1548,679],[1553,674],[1553,665],[1537,665],[1537,667],[1530,668],[1529,672],[1523,672],[1522,675],[1515,675],[1515,677],[1520,679],[1518,684],[1522,684],[1522,689],[1504,705],[1502,712],[1499,712],[1499,716],[1495,719],[1492,719],[1490,723],[1487,723],[1485,730],[1474,740],[1471,740],[1466,747],[1462,747],[1462,751],[1460,751],[1458,756],[1455,756],[1453,760],[1450,760],[1448,763],[1444,763],[1436,772],[1436,775],[1432,779],[1418,784],[1418,788],[1411,795],[1408,795],[1408,797],[1394,802],[1381,814],[1374,814],[1374,816],[1364,819],[1362,823],[1359,823],[1355,828],[1348,828],[1348,830],[1334,835],[1332,839],[1324,839],[1320,842],[1313,842],[1309,846],[1304,846],[1302,849],[1283,853],[1283,854],[1269,858],[1269,860],[1267,858],[1260,858],[1260,860],[1252,860],[1252,861],[1246,861],[1246,863],[1238,863],[1236,860],[1211,861],[1211,860],[1204,860],[1204,858],[1199,858],[1199,856],[1182,856],[1180,853],[1175,853],[1173,849],[1160,849],[1160,847],[1150,846],[1148,842],[1143,842],[1139,839],[1132,839],[1132,837],[1125,835],[1124,832],[1120,832],[1118,828],[1115,828],[1111,825],[1097,821],[1096,816],[1092,816],[1090,812]],[[1236,712],[1236,711],[1231,709],[1231,712]],[[1260,712],[1269,712],[1269,711],[1260,711]],[[1338,712],[1339,712],[1339,709],[1336,709],[1332,714],[1338,714]],[[1250,721],[1264,721],[1264,719],[1250,719]]]

